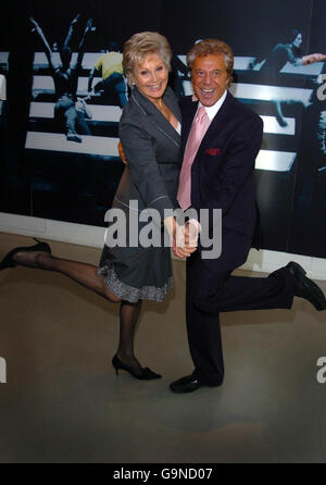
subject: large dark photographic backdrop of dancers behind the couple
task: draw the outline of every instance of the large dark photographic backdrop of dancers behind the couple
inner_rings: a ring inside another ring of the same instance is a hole
[[[2,18],[0,211],[104,225],[124,170],[123,43],[136,32],[165,35],[180,97],[191,92],[186,52],[216,37],[235,52],[230,91],[264,122],[255,166],[263,248],[326,258],[325,62],[298,62],[326,53],[324,0],[11,2]],[[74,102],[55,77],[66,47]]]

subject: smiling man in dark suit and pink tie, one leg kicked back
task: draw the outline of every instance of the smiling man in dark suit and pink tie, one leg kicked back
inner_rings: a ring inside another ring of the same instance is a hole
[[[220,312],[289,309],[294,296],[317,310],[326,309],[322,290],[294,262],[268,277],[230,275],[246,262],[259,234],[253,171],[263,123],[227,91],[234,64],[229,46],[202,40],[190,49],[187,63],[195,97],[181,99],[184,162],[178,201],[183,210],[209,210],[210,235],[216,228],[213,211],[222,209],[222,253],[205,259],[199,240],[198,250],[187,259],[186,318],[195,371],[171,384],[175,393],[222,384]],[[175,249],[177,256],[181,249]]]

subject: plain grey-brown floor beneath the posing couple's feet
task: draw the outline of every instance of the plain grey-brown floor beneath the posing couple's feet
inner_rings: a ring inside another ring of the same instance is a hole
[[[0,257],[30,242],[2,233]],[[100,254],[51,246],[55,256],[93,264]],[[116,306],[57,273],[0,273],[0,462],[326,461],[326,383],[316,380],[326,312],[296,299],[291,311],[223,315],[224,385],[175,395],[170,382],[192,365],[183,262],[174,274],[171,298],[145,304],[137,334],[140,361],[163,378],[138,382],[116,376],[110,363]]]

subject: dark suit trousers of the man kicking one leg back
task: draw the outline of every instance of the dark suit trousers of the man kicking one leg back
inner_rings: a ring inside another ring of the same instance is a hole
[[[285,268],[268,277],[231,276],[231,270],[225,264],[231,250],[228,245],[221,262],[211,264],[201,259],[199,251],[187,260],[189,348],[196,375],[209,385],[222,384],[224,377],[220,312],[289,309],[294,296],[293,279]]]

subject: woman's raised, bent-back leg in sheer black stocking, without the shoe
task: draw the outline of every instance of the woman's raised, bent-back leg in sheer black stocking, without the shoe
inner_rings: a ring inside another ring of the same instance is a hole
[[[121,301],[121,299],[105,286],[104,276],[97,275],[97,268],[91,264],[55,258],[43,251],[18,251],[13,256],[13,259],[16,264],[22,266],[57,271],[114,303]]]

